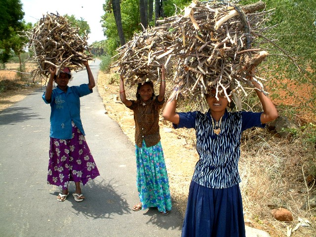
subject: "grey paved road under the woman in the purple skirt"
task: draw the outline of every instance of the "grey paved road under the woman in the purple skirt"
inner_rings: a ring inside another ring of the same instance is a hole
[[[90,66],[97,78],[100,61]],[[72,84],[87,81],[74,73]],[[173,209],[134,212],[138,201],[134,145],[105,114],[97,89],[81,98],[86,140],[100,176],[82,189],[86,199],[72,195],[56,200],[60,190],[46,184],[50,106],[43,89],[0,112],[0,237],[178,237],[182,218]],[[69,185],[74,192],[75,185]]]

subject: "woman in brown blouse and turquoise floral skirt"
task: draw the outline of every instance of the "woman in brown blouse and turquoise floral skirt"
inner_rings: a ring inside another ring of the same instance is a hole
[[[138,83],[137,100],[126,99],[123,76],[120,75],[119,96],[123,104],[134,112],[136,184],[140,202],[133,211],[157,207],[161,215],[169,214],[171,197],[159,134],[159,110],[164,103],[165,68],[161,68],[159,95],[155,96],[152,81]]]

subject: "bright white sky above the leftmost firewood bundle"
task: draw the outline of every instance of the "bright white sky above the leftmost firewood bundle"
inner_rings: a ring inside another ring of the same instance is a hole
[[[101,16],[105,14],[102,8],[105,0],[21,0],[21,3],[27,23],[34,24],[47,13],[75,15],[76,19],[83,18],[90,26],[89,44],[106,39],[100,23]]]

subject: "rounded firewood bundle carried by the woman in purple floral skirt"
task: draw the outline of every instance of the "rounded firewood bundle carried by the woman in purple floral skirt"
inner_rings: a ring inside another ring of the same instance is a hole
[[[57,14],[44,15],[29,34],[29,45],[38,64],[36,75],[49,74],[49,67],[56,67],[56,75],[69,67],[82,69],[83,61],[91,60],[87,35],[81,37],[78,27],[71,27],[67,18]]]

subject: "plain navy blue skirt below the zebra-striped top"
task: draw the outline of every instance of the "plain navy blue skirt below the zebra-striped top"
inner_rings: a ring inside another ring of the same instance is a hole
[[[191,182],[182,237],[245,237],[239,185],[213,189]]]

